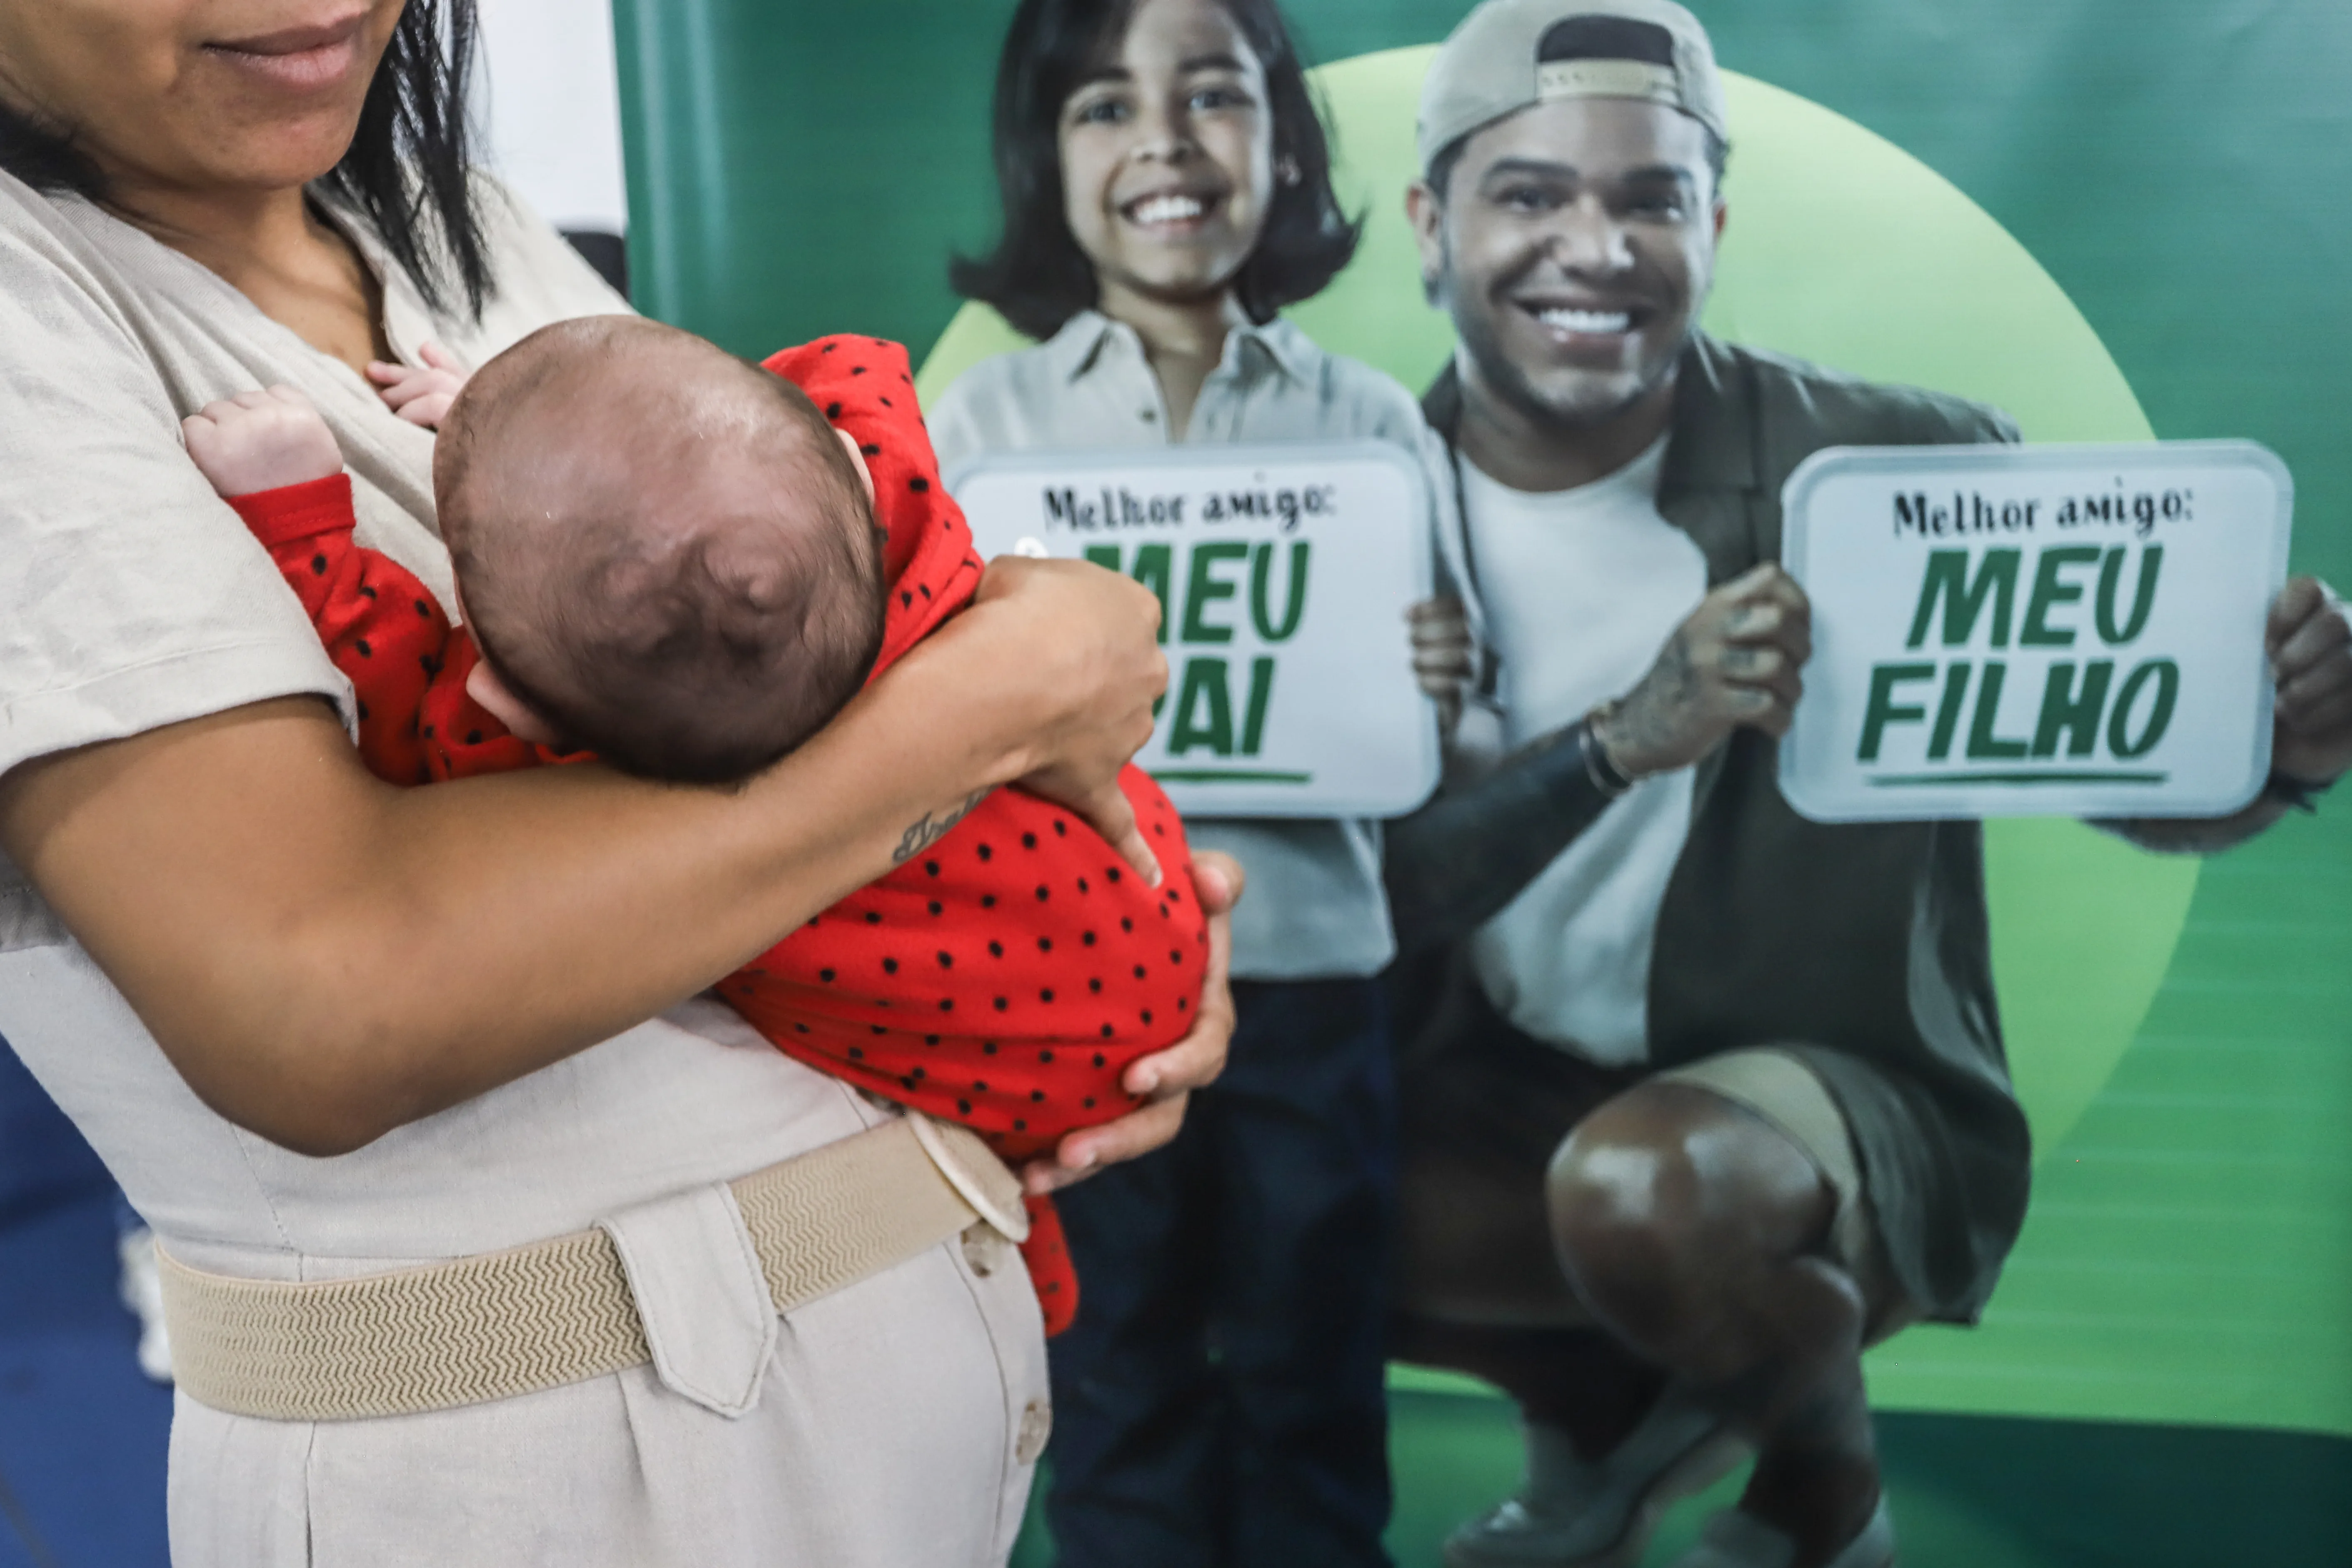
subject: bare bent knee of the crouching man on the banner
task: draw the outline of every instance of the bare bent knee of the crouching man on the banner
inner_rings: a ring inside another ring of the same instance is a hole
[[[1545,1201],[1583,1302],[1668,1361],[1719,1347],[1762,1276],[1823,1244],[1837,1204],[1783,1133],[1679,1084],[1585,1117],[1552,1157]]]

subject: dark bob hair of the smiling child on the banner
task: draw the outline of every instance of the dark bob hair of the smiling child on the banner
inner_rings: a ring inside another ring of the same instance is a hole
[[[1362,221],[1331,193],[1331,141],[1305,68],[1272,0],[1216,0],[1265,66],[1277,179],[1256,249],[1232,280],[1249,320],[1312,299],[1348,259]],[[957,256],[948,282],[1033,339],[1049,339],[1096,303],[1094,263],[1063,219],[1061,106],[1127,31],[1136,0],[1021,0],[997,59],[995,160],[1004,237],[988,256]]]

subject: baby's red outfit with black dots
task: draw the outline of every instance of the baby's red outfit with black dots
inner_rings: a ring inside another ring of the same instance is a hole
[[[767,369],[847,430],[873,473],[889,578],[880,675],[981,581],[971,529],[938,482],[906,350],[835,336],[788,348]],[[407,569],[353,543],[348,480],[235,505],[353,679],[362,757],[376,776],[430,783],[560,759],[466,698],[473,639]],[[1160,889],[1061,806],[997,790],[927,846],[910,830],[898,870],[717,992],[821,1072],[976,1128],[1007,1161],[1049,1154],[1065,1133],[1136,1107],[1120,1074],[1192,1027],[1207,969],[1183,823],[1143,771],[1127,769],[1120,788],[1167,867]],[[1047,1333],[1061,1333],[1077,1312],[1077,1276],[1047,1199],[1030,1199],[1021,1258]]]

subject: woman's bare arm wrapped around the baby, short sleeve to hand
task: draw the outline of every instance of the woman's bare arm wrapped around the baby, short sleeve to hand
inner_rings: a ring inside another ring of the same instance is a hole
[[[988,788],[1134,839],[1155,614],[1108,571],[1000,564],[734,792],[597,766],[393,790],[325,705],[259,703],[14,769],[0,851],[207,1105],[339,1154],[708,987]]]

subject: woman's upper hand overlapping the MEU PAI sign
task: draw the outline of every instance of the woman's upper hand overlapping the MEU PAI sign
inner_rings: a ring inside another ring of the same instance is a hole
[[[1025,745],[1011,783],[1061,802],[1160,886],[1160,858],[1136,827],[1120,769],[1150,741],[1152,703],[1169,689],[1160,597],[1087,562],[1000,557],[971,609],[924,651],[974,670],[1021,670]]]

